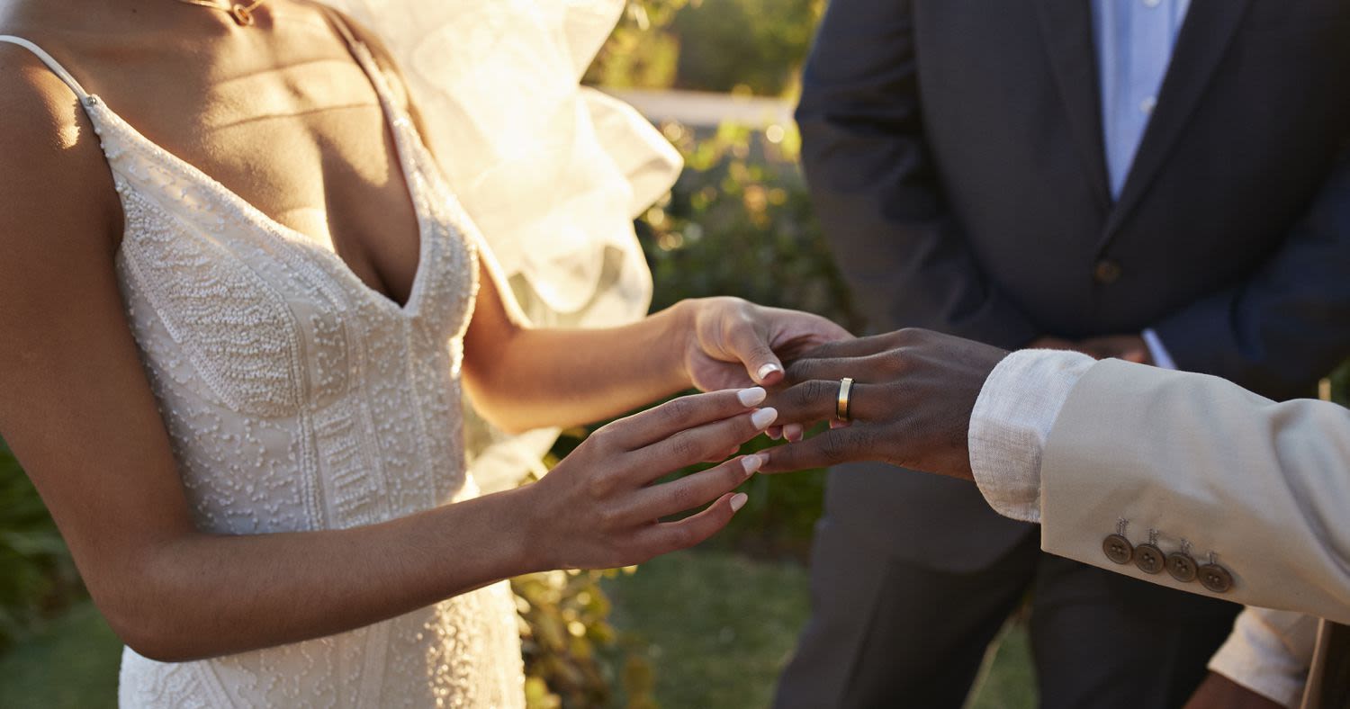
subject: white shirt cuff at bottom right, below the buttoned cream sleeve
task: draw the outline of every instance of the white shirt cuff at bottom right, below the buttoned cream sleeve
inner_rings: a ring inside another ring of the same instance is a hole
[[[1303,701],[1318,619],[1291,610],[1247,608],[1233,633],[1210,659],[1210,670],[1243,687],[1296,709]]]

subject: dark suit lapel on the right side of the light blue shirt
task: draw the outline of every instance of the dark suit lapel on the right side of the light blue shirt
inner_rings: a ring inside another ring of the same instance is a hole
[[[1191,113],[1223,59],[1250,0],[1192,0],[1172,53],[1172,63],[1158,92],[1157,108],[1143,131],[1120,199],[1107,219],[1103,246],[1120,227],[1166,162]]]

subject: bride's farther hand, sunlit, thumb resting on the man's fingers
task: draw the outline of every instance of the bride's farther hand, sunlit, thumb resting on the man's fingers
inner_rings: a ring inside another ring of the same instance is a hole
[[[684,301],[688,338],[684,370],[703,392],[783,381],[783,359],[813,347],[853,339],[842,327],[811,313],[765,308],[741,298]]]

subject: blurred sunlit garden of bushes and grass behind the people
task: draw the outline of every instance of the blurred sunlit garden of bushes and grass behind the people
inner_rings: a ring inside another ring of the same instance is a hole
[[[587,84],[636,105],[686,159],[639,220],[653,309],[733,294],[861,328],[811,216],[791,122],[824,4],[630,0],[590,68]],[[1342,401],[1346,378],[1332,382]],[[564,432],[545,463],[585,435]],[[806,621],[824,481],[821,470],[752,479],[747,508],[695,551],[516,579],[531,706],[767,706]],[[115,706],[120,650],[0,442],[0,706]],[[1019,617],[971,704],[1035,706]]]

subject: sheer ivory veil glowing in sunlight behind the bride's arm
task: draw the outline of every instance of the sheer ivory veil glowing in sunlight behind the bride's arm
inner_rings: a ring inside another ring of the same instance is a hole
[[[647,313],[652,281],[632,219],[680,157],[632,107],[580,77],[626,0],[324,0],[373,30],[406,74],[427,140],[540,325]],[[509,436],[466,402],[470,470],[513,486],[556,429]]]

